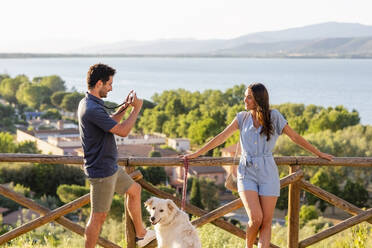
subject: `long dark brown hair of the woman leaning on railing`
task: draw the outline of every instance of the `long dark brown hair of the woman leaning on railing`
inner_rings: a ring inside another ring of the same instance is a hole
[[[253,83],[248,86],[248,89],[252,91],[253,98],[257,104],[257,119],[262,125],[260,134],[267,136],[267,141],[270,136],[274,134],[274,128],[271,123],[270,104],[269,104],[269,93],[266,87],[261,83]]]

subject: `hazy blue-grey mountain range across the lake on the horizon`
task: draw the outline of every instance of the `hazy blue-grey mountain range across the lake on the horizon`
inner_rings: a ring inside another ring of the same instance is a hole
[[[123,41],[72,51],[80,54],[180,56],[372,56],[372,26],[328,22],[230,40]]]

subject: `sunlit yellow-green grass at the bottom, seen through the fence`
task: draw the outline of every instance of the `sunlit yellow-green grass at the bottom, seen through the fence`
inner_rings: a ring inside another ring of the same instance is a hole
[[[300,240],[313,235],[316,230],[321,231],[328,228],[328,224],[320,217],[318,220],[307,223],[300,230]],[[20,224],[20,223],[19,223]],[[84,225],[84,223],[81,223]],[[101,236],[112,242],[125,247],[124,224],[114,220],[107,220],[102,229]],[[207,224],[198,229],[203,248],[244,248],[244,240],[223,231],[222,229]],[[337,235],[329,237],[322,242],[316,243],[312,248],[367,248],[372,244],[372,225],[368,223],[359,224],[347,229]],[[287,228],[274,225],[272,230],[272,243],[280,247],[287,246]],[[36,230],[24,234],[3,247],[14,248],[71,248],[84,247],[81,236],[65,230],[62,226],[54,223],[44,225]],[[98,247],[98,246],[97,246]]]

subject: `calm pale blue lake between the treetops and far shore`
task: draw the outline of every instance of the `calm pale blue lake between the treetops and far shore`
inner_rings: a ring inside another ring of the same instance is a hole
[[[86,72],[102,62],[117,69],[107,100],[122,102],[130,89],[151,99],[154,93],[184,88],[225,90],[262,82],[272,104],[285,102],[343,105],[356,109],[362,124],[372,124],[372,60],[254,58],[27,58],[0,59],[0,73],[12,77],[57,74],[68,89],[86,91]]]

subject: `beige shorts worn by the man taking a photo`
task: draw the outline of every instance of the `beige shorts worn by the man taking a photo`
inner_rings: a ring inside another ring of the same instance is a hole
[[[112,176],[88,178],[88,180],[90,182],[90,205],[93,213],[107,213],[110,210],[114,192],[123,195],[134,183],[121,166]]]

